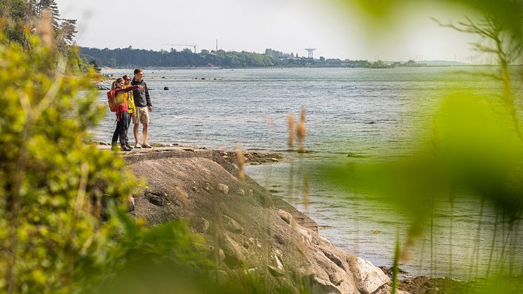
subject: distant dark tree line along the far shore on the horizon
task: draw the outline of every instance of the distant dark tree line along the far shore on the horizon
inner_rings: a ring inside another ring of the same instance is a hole
[[[80,47],[80,55],[102,67],[372,67],[367,60],[303,58],[273,49],[266,49],[265,53],[205,49],[193,53],[189,48],[152,51],[131,46],[116,49]]]

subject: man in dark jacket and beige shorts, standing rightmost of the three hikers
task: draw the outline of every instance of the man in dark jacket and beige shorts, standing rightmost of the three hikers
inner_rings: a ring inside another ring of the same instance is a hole
[[[144,86],[142,89],[133,90],[133,97],[135,98],[135,110],[136,116],[133,116],[133,123],[135,128],[133,133],[135,135],[135,148],[151,148],[149,142],[147,142],[147,135],[149,133],[149,112],[153,110],[153,105],[151,104],[151,98],[149,98],[149,91],[147,90],[147,84],[142,79],[144,76],[144,71],[142,69],[135,69],[135,77],[131,82],[131,85],[141,85]],[[142,145],[140,145],[140,138],[138,130],[140,128],[140,123],[144,125],[142,129]]]

